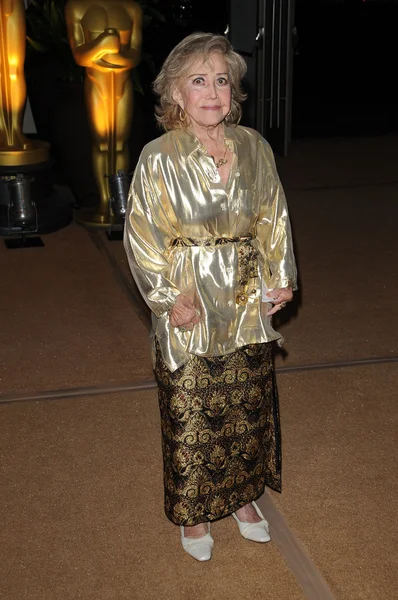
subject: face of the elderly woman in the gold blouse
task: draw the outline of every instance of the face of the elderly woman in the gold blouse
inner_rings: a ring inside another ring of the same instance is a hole
[[[174,100],[192,120],[192,127],[215,127],[231,108],[231,85],[224,57],[219,52],[206,62],[197,59],[173,93]]]

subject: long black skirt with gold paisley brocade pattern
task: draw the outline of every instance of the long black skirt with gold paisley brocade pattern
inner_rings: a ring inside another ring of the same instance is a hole
[[[156,344],[166,516],[215,521],[280,491],[278,397],[270,343],[193,355],[173,373]]]

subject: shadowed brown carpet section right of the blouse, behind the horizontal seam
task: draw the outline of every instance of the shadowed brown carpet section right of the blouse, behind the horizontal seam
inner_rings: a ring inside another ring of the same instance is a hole
[[[398,356],[398,185],[292,191],[300,291],[278,366]],[[297,307],[297,304],[300,306]]]

